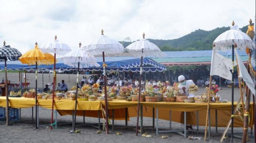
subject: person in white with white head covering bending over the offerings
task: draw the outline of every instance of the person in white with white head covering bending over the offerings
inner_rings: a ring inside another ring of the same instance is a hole
[[[186,80],[184,75],[180,75],[178,77],[179,80],[179,85],[178,88],[180,89],[180,93],[182,93],[182,95],[189,95],[189,86],[194,84],[193,80]]]

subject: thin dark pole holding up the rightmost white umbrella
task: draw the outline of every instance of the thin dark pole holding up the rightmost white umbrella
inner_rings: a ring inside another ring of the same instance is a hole
[[[232,89],[231,89],[231,114],[234,114],[234,45],[232,45]],[[233,142],[234,118],[231,116],[231,143]]]

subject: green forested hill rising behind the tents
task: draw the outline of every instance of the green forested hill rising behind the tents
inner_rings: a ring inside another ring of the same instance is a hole
[[[198,29],[181,38],[162,40],[162,39],[148,39],[150,42],[156,44],[162,51],[194,51],[194,50],[211,50],[212,42],[220,34],[229,30],[230,27],[221,27],[213,30]],[[243,32],[247,31],[247,26],[241,28]],[[132,42],[121,41],[126,47]]]

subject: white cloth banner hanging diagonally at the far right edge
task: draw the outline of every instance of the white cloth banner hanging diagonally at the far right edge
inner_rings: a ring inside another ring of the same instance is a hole
[[[247,85],[247,87],[251,90],[252,94],[255,95],[255,84],[251,78],[251,76],[249,75],[247,69],[245,68],[245,65],[243,64],[240,56],[238,55],[238,53],[236,52],[236,58],[237,58],[237,63],[239,66],[239,78],[242,78],[243,81],[245,82],[245,84]]]

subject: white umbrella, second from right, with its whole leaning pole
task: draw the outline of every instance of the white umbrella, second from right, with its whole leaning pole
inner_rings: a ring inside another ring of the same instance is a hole
[[[160,48],[158,48],[158,46],[154,45],[153,43],[145,39],[145,33],[143,33],[142,36],[143,36],[142,40],[131,43],[129,46],[126,47],[128,52],[131,53],[134,57],[141,57],[136,136],[138,136],[138,126],[139,126],[140,91],[141,91],[141,80],[142,80],[143,57],[145,56],[164,57],[165,56],[165,54],[160,50]]]

